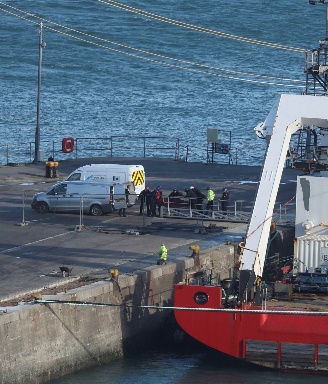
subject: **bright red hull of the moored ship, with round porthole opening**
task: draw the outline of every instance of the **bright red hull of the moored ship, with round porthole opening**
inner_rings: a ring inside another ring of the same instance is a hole
[[[207,294],[207,303],[195,302],[197,292]],[[177,284],[174,306],[222,308],[221,292],[218,286]],[[262,310],[262,307],[252,309]],[[292,311],[291,308],[282,310]],[[230,356],[283,371],[328,373],[327,316],[296,313],[174,311],[184,331]]]

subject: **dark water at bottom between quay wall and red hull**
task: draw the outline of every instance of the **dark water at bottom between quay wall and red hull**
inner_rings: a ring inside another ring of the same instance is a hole
[[[243,364],[202,346],[191,351],[144,351],[50,384],[326,384],[325,375],[297,374]]]

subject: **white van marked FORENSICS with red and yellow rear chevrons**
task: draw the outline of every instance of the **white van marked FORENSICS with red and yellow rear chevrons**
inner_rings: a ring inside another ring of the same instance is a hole
[[[145,171],[142,166],[123,164],[90,164],[72,172],[64,181],[89,181],[106,183],[134,182],[136,195],[145,189]]]

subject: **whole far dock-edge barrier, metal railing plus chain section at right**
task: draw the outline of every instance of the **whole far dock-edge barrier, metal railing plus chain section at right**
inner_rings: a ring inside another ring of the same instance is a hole
[[[78,159],[85,157],[166,157],[184,161],[207,162],[208,149],[182,145],[178,137],[110,136],[77,137],[73,152],[63,153],[61,141],[41,141],[40,149],[47,160]],[[34,142],[0,144],[0,164],[27,163],[34,160]],[[234,154],[235,153],[235,154]],[[215,163],[259,165],[263,156],[253,156],[247,149],[230,148],[224,154],[215,153]],[[219,160],[219,161],[218,161]],[[231,160],[231,161],[230,161]]]

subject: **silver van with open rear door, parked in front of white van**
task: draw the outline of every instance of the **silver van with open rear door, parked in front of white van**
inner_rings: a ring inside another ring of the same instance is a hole
[[[81,211],[90,212],[93,216],[100,216],[114,212],[116,209],[126,208],[126,185],[130,184],[129,198],[136,198],[134,183],[123,184],[95,183],[87,181],[66,181],[53,185],[45,192],[33,196],[31,207],[39,213],[49,211]]]

